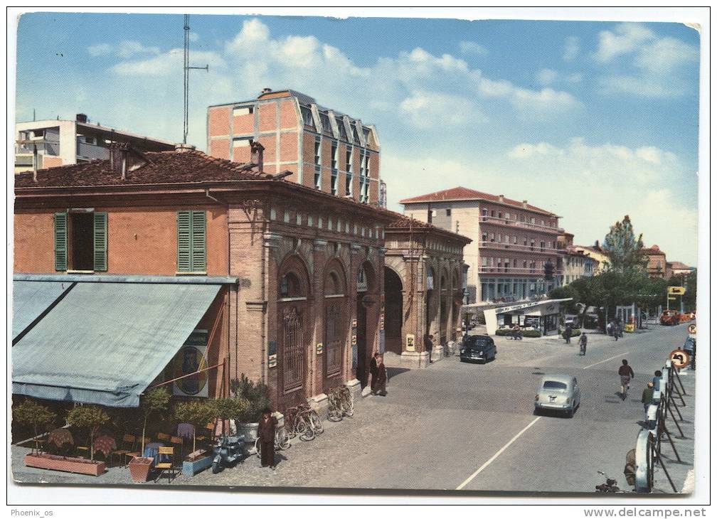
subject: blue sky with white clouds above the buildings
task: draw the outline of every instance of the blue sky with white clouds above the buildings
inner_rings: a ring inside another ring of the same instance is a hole
[[[630,214],[696,263],[699,36],[683,24],[192,15],[189,141],[206,106],[292,87],[376,124],[389,206],[462,185],[564,216]],[[16,118],[181,140],[182,16],[25,14]],[[62,54],[59,56],[58,54]]]

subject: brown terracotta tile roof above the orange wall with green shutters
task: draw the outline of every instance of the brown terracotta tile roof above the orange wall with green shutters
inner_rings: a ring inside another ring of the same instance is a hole
[[[250,165],[214,158],[201,151],[150,151],[136,154],[146,162],[127,171],[125,180],[113,171],[110,161],[90,161],[15,175],[16,188],[115,186],[131,184],[185,184],[201,181],[257,180],[271,178]],[[131,168],[129,168],[131,169]]]

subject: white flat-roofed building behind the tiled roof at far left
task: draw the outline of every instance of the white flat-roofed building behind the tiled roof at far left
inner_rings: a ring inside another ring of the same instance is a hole
[[[109,158],[111,143],[128,143],[136,151],[171,151],[174,143],[75,120],[32,120],[15,125],[15,173]]]

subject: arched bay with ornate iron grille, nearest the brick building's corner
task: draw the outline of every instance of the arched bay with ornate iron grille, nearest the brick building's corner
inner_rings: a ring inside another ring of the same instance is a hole
[[[279,269],[277,294],[277,389],[282,409],[306,398],[309,293],[303,262],[289,257]]]

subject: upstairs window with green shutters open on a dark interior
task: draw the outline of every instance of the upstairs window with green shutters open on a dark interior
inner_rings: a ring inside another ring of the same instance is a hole
[[[54,270],[107,270],[107,213],[54,215]]]

